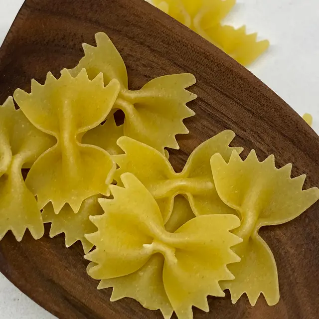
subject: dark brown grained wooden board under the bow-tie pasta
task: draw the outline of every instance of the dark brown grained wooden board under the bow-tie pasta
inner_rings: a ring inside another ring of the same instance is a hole
[[[190,135],[179,138],[181,150],[170,158],[177,170],[200,142],[232,129],[233,145],[243,146],[244,156],[253,148],[260,159],[274,154],[278,166],[294,164],[294,176],[308,175],[306,187],[319,185],[315,132],[249,71],[144,0],[26,0],[0,49],[0,103],[17,87],[29,90],[31,78],[43,83],[48,71],[58,75],[75,66],[81,43],[94,44],[98,31],[122,54],[132,89],[160,75],[196,76]],[[195,310],[194,318],[318,319],[318,212],[317,203],[290,223],[260,231],[278,265],[278,305],[268,307],[260,298],[253,308],[246,297],[232,305],[227,294],[209,298],[210,313]],[[82,256],[80,245],[64,247],[63,236],[49,239],[48,228],[38,241],[27,233],[17,243],[9,233],[0,242],[0,271],[60,319],[161,318],[130,299],[109,302],[111,290],[95,289]]]

